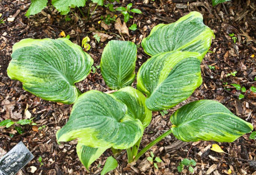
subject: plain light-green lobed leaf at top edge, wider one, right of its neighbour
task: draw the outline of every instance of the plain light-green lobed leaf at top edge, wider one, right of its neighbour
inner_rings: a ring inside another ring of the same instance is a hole
[[[61,15],[65,15],[70,11],[70,8],[84,7],[86,0],[52,0],[52,5],[60,12]]]

